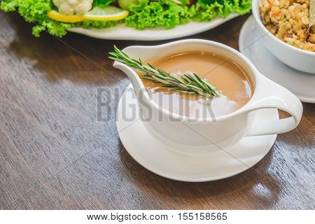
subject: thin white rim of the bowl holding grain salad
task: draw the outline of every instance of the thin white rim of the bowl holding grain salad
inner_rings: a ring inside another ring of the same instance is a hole
[[[261,0],[252,0],[251,3],[251,11],[253,13],[253,17],[255,18],[255,21],[257,22],[258,26],[260,27],[260,29],[262,29],[265,34],[267,36],[269,36],[270,38],[272,38],[274,41],[276,41],[279,44],[284,45],[285,47],[289,48],[290,50],[300,53],[302,55],[307,55],[307,56],[311,56],[311,57],[315,57],[315,52],[311,52],[309,50],[303,50],[301,48],[297,48],[293,45],[290,45],[284,41],[281,41],[279,38],[277,38],[276,36],[274,36],[274,34],[272,34],[266,27],[265,25],[262,24],[262,21],[260,19],[260,13],[259,13],[259,4],[260,4]]]

